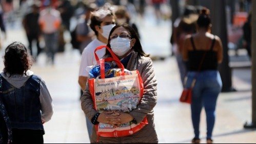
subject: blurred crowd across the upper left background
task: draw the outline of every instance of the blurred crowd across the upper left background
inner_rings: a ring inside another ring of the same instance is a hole
[[[5,24],[14,27],[16,20],[21,20],[28,39],[27,47],[34,60],[41,52],[46,52],[47,63],[52,64],[55,53],[64,52],[65,44],[69,42],[65,40],[65,33],[70,34],[73,48],[82,54],[95,37],[88,23],[90,12],[97,8],[110,7],[116,14],[116,21],[129,23],[139,36],[135,21],[136,17],[144,17],[146,6],[154,8],[157,21],[171,16],[168,0],[1,0],[0,3],[0,28],[5,34],[1,39],[7,36]],[[42,41],[47,42],[42,45]]]

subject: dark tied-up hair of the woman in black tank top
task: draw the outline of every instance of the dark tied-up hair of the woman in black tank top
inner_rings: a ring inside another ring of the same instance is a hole
[[[208,28],[211,24],[211,18],[209,16],[210,14],[210,11],[206,8],[203,8],[201,10],[201,13],[199,15],[199,18],[198,18],[198,27],[199,28]]]

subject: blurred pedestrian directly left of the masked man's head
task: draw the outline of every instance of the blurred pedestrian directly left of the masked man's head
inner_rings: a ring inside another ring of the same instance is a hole
[[[76,26],[76,40],[80,42],[79,50],[82,54],[85,47],[92,41],[94,37],[94,32],[91,31],[89,27],[91,12],[95,10],[93,5],[84,5],[85,13],[78,19]]]

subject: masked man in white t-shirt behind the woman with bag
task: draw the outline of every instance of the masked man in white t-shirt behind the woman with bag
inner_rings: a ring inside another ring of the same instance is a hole
[[[84,49],[81,58],[78,83],[82,90],[85,89],[89,72],[86,70],[88,66],[96,64],[94,50],[101,46],[107,45],[108,37],[111,29],[115,26],[115,18],[112,11],[107,7],[102,7],[91,13],[90,28],[94,31],[96,38],[91,41]],[[105,49],[97,51],[97,56],[102,58],[105,55]],[[91,137],[92,123],[86,117],[86,124],[89,137]]]

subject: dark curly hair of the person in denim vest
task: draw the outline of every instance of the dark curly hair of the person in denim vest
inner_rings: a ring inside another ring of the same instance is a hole
[[[32,66],[32,57],[25,45],[21,42],[13,42],[5,49],[4,73],[12,75],[26,75],[27,70]]]

